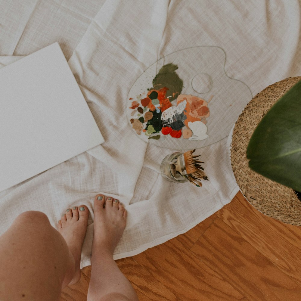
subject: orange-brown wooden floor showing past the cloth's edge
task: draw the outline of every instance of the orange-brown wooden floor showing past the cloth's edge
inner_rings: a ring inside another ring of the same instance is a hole
[[[264,216],[241,193],[187,233],[116,262],[140,301],[301,300],[301,228]],[[61,301],[86,300],[90,272]]]

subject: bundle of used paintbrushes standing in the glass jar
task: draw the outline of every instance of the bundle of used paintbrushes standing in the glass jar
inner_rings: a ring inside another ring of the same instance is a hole
[[[198,160],[197,158],[200,155],[193,155],[194,152],[195,149],[180,155],[175,164],[175,170],[187,178],[193,185],[200,187],[202,186],[201,179],[208,181],[208,178],[204,172],[204,168],[200,165],[200,163],[204,162]]]

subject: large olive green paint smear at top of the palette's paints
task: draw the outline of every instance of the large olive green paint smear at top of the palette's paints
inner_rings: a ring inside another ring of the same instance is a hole
[[[178,69],[177,65],[172,63],[164,65],[153,79],[154,89],[168,88],[166,97],[169,101],[175,100],[181,94],[183,88],[183,81],[179,78],[175,70]]]

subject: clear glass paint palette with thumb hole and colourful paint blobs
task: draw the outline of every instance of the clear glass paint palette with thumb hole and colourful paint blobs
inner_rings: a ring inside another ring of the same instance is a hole
[[[126,102],[135,135],[181,150],[227,137],[252,94],[246,84],[226,75],[225,59],[222,48],[200,46],[176,51],[147,68]]]

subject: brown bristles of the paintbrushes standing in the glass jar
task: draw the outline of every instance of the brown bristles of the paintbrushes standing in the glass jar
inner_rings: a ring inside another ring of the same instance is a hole
[[[187,178],[195,186],[202,186],[202,183],[200,182],[201,179],[203,178],[204,180],[208,180],[208,178],[205,172],[203,172],[203,167],[199,164],[204,162],[197,159],[200,155],[192,155],[194,151],[195,149],[184,153],[185,168],[187,172],[185,178]]]

